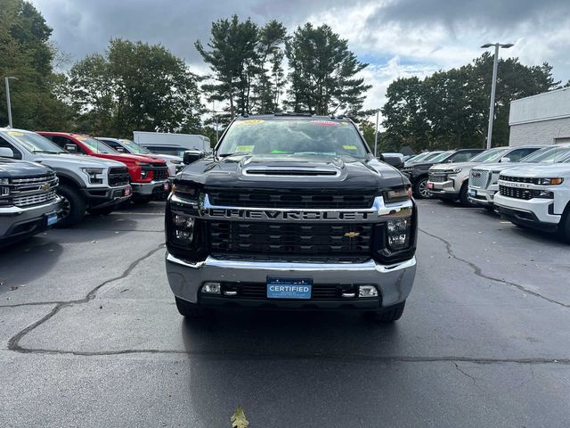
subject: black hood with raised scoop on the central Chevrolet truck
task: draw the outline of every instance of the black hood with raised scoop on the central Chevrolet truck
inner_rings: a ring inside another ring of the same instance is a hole
[[[354,188],[374,192],[409,183],[397,169],[374,158],[307,154],[210,156],[192,163],[176,178],[207,186]]]

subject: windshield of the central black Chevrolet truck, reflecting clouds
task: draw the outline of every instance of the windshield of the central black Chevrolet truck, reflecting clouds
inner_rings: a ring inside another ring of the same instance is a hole
[[[236,120],[220,144],[218,156],[232,154],[328,154],[364,158],[358,131],[344,120]]]

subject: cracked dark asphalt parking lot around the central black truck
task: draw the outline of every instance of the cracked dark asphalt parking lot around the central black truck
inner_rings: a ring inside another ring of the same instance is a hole
[[[0,426],[570,425],[570,246],[419,202],[403,318],[232,311],[188,323],[164,205],[0,252]]]

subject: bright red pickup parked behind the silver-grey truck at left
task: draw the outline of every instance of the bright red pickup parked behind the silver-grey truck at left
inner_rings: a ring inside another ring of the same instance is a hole
[[[161,159],[119,153],[91,136],[45,131],[38,131],[37,134],[52,140],[68,152],[123,162],[131,177],[134,202],[147,202],[163,197],[169,190],[167,162]]]

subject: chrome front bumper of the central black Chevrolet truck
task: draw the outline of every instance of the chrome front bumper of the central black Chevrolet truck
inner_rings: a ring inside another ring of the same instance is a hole
[[[175,296],[199,301],[205,282],[265,283],[268,276],[311,277],[313,284],[373,284],[381,295],[382,307],[406,300],[416,275],[416,258],[380,265],[370,259],[364,263],[281,263],[229,261],[208,257],[191,263],[167,252],[168,283]],[[267,301],[267,300],[264,300]],[[274,301],[274,300],[272,300]],[[311,300],[306,300],[311,304]]]

